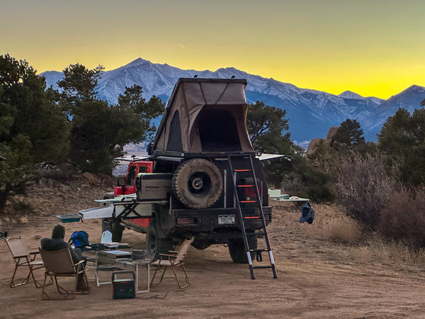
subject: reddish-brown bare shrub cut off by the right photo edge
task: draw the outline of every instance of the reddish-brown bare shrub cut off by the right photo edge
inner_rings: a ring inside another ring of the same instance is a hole
[[[378,230],[409,247],[425,247],[425,186],[393,194],[380,211]]]

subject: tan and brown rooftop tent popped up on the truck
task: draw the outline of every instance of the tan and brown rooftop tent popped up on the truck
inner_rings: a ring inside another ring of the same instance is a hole
[[[153,154],[255,152],[246,132],[245,87],[245,79],[179,79]]]

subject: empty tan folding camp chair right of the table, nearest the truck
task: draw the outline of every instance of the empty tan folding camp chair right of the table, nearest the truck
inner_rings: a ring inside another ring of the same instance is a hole
[[[186,272],[186,268],[184,267],[183,259],[186,256],[189,247],[191,247],[192,242],[193,242],[193,236],[190,240],[185,239],[183,241],[183,244],[181,244],[180,250],[178,252],[176,252],[174,250],[169,250],[169,254],[159,254],[161,259],[159,259],[155,262],[152,262],[152,265],[156,266],[156,269],[155,269],[154,276],[152,276],[152,280],[151,280],[151,283],[150,283],[151,287],[152,287],[152,284],[153,284],[154,279],[155,279],[155,275],[157,274],[158,270],[161,269],[161,268],[164,268],[162,275],[161,275],[161,278],[159,279],[157,284],[161,283],[162,279],[164,279],[164,274],[165,274],[167,267],[171,267],[171,269],[173,270],[174,278],[176,278],[177,285],[179,286],[180,289],[183,289],[183,288],[190,285],[189,277],[188,277],[188,274]],[[183,269],[183,272],[184,272],[184,275],[185,275],[186,284],[184,284],[183,286],[180,284],[179,277],[177,276],[177,273],[176,273],[177,267],[181,267],[181,269]]]

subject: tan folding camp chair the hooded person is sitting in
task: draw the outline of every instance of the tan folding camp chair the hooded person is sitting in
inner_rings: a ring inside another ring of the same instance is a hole
[[[83,260],[74,264],[74,262],[72,262],[71,252],[69,252],[69,249],[67,248],[54,251],[41,250],[40,248],[38,250],[40,250],[41,259],[45,266],[45,279],[41,292],[42,299],[67,299],[68,297],[70,297],[69,299],[74,299],[76,293],[90,293],[89,282],[87,281]],[[85,291],[77,291],[79,275],[83,276],[86,283],[87,289]],[[55,279],[57,291],[64,296],[52,297],[45,291],[45,286],[47,286],[47,277]],[[64,289],[63,286],[60,286],[57,282],[57,277],[75,277],[73,289],[67,290]]]

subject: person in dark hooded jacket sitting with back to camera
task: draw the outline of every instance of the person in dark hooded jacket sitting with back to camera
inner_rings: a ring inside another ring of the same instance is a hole
[[[81,254],[81,250],[79,248],[72,248],[67,242],[64,241],[65,237],[65,228],[62,225],[56,225],[52,230],[52,238],[43,238],[40,240],[41,249],[46,251],[53,250],[63,250],[64,248],[68,248],[71,252],[72,262],[76,264],[81,260],[84,260],[84,266],[86,264],[85,258]],[[84,278],[79,275],[77,281],[77,291],[85,291],[88,287],[86,287],[86,283]]]

